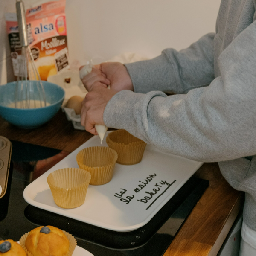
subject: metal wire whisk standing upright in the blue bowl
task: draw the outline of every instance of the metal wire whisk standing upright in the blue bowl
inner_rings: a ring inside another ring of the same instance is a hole
[[[15,87],[15,108],[41,108],[46,106],[46,96],[38,69],[28,43],[25,8],[16,0],[21,56]]]

